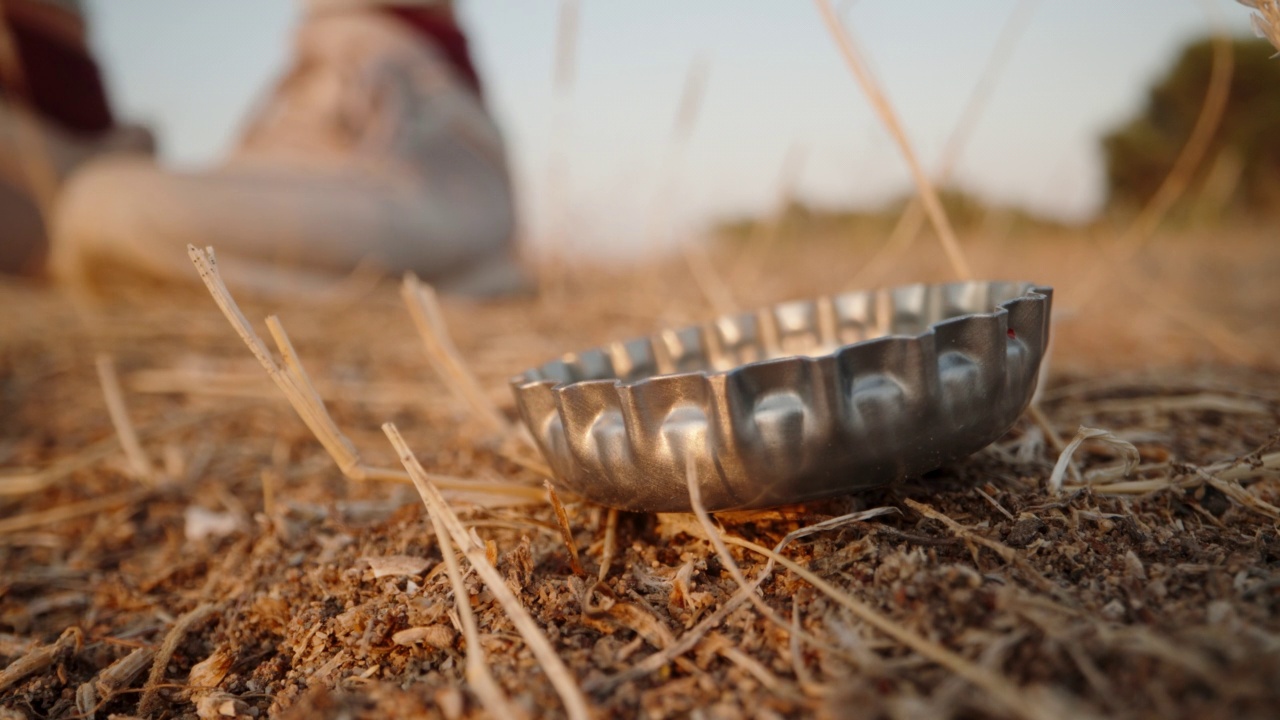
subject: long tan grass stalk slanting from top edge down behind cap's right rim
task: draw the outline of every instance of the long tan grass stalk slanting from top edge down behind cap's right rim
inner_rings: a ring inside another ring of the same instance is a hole
[[[937,188],[929,182],[928,176],[924,173],[924,168],[920,165],[919,159],[915,156],[915,150],[911,147],[911,141],[906,138],[906,131],[897,119],[897,114],[893,111],[893,106],[890,105],[888,99],[881,92],[879,86],[876,79],[872,78],[870,70],[867,68],[867,63],[863,61],[858,53],[858,47],[854,44],[854,38],[849,29],[840,22],[836,12],[832,9],[829,0],[814,0],[818,5],[818,12],[822,14],[823,22],[827,24],[827,29],[831,32],[832,38],[835,38],[836,45],[840,47],[840,53],[845,56],[845,63],[849,69],[852,70],[854,78],[858,79],[858,85],[861,86],[863,92],[870,101],[872,108],[876,114],[879,115],[881,122],[888,129],[890,135],[893,136],[893,141],[897,142],[899,150],[902,152],[902,158],[906,159],[906,164],[911,170],[911,178],[915,181],[915,187],[920,193],[920,200],[924,202],[924,210],[929,215],[929,220],[933,223],[933,229],[938,233],[938,240],[942,241],[942,250],[947,254],[947,260],[951,263],[952,270],[957,278],[966,281],[973,278],[973,270],[969,269],[969,261],[965,260],[964,251],[960,250],[960,241],[956,238],[955,229],[951,227],[951,220],[947,218],[946,210],[942,208],[942,200],[938,197]]]

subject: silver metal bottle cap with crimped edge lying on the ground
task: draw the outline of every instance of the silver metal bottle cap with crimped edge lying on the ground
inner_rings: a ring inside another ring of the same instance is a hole
[[[557,483],[636,511],[767,507],[918,477],[1009,430],[1052,288],[905,286],[785,302],[512,379]]]

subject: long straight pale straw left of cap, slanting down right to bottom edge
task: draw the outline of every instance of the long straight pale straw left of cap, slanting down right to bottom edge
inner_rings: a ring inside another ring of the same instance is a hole
[[[387,433],[387,437],[396,447],[396,452],[399,455],[401,462],[404,464],[404,469],[408,470],[410,478],[413,479],[413,487],[422,496],[422,502],[426,505],[428,511],[433,518],[439,516],[449,537],[462,548],[462,553],[471,561],[471,566],[475,568],[476,574],[480,575],[485,587],[489,588],[489,592],[493,593],[494,598],[507,612],[507,618],[511,619],[520,635],[525,638],[529,650],[538,659],[539,664],[541,664],[543,671],[564,703],[566,714],[573,720],[586,720],[590,717],[586,697],[582,696],[581,688],[577,687],[568,667],[564,666],[564,662],[556,653],[556,648],[548,642],[547,635],[538,628],[538,623],[534,621],[534,618],[520,603],[515,593],[511,592],[511,588],[507,587],[506,580],[498,570],[489,562],[489,559],[485,556],[485,548],[471,539],[471,534],[467,533],[462,521],[458,520],[458,516],[454,515],[453,510],[444,501],[439,488],[435,487],[426,470],[419,464],[417,457],[413,456],[408,445],[404,443],[404,438],[401,437],[396,425],[387,423],[383,425],[383,432]]]

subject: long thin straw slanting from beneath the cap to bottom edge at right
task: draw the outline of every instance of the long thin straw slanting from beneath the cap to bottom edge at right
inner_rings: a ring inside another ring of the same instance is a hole
[[[785,557],[783,555],[772,551],[764,546],[756,544],[751,541],[736,538],[732,536],[726,536],[724,541],[730,544],[736,544],[739,547],[745,547],[753,552],[756,552],[771,561],[782,565],[787,570],[791,570],[805,582],[812,584],[814,588],[819,589],[827,597],[835,600],[846,610],[854,614],[859,620],[867,623],[872,628],[876,628],[881,633],[893,638],[895,641],[902,643],[904,646],[911,648],[914,652],[928,659],[932,662],[946,667],[951,673],[960,678],[964,678],[974,687],[984,691],[993,700],[996,700],[1001,706],[1004,706],[1009,712],[1019,716],[1027,717],[1029,720],[1057,720],[1059,715],[1044,706],[1043,703],[1033,700],[1028,693],[1023,692],[1018,685],[1009,682],[1006,678],[975,665],[974,662],[966,660],[965,657],[956,655],[955,652],[942,647],[941,644],[908,629],[897,623],[893,623],[888,618],[881,615],[870,606],[861,603],[855,600],[849,593],[841,592],[838,588],[831,583],[823,580],[809,569],[803,565]]]

